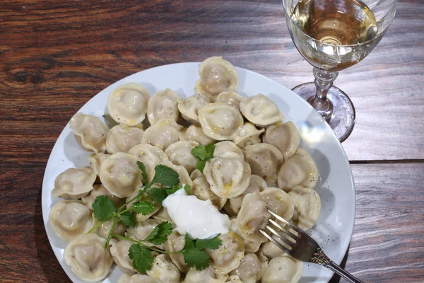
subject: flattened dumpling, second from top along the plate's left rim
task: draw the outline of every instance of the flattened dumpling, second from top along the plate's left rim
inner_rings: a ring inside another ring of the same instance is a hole
[[[65,200],[78,200],[93,190],[96,177],[91,168],[69,168],[54,180],[52,195]]]

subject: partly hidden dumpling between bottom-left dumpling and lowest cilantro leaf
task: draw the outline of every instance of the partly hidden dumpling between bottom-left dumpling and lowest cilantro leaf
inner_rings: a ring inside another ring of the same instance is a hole
[[[136,270],[133,267],[132,260],[129,258],[129,247],[133,243],[126,240],[110,240],[110,254],[112,255],[113,261],[124,273],[134,274]]]

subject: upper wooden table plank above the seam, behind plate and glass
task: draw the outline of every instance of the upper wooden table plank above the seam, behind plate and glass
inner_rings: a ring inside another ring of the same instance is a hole
[[[351,160],[424,158],[423,13],[420,0],[399,1],[376,50],[336,81],[358,114],[343,144]],[[5,164],[45,164],[81,105],[143,69],[220,54],[289,88],[312,80],[279,0],[7,0],[0,36]]]

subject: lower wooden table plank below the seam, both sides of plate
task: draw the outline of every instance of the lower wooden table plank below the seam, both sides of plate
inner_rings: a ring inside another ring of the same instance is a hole
[[[423,163],[353,165],[357,212],[346,270],[365,282],[424,282],[423,173]],[[45,234],[43,174],[40,166],[0,167],[1,282],[69,282]]]

